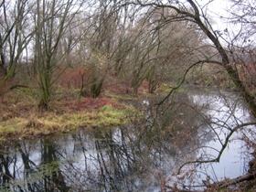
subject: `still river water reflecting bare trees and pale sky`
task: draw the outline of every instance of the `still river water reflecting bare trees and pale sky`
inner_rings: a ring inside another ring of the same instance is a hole
[[[0,149],[1,191],[164,191],[195,188],[246,173],[251,149],[241,140],[252,127],[234,133],[219,163],[214,159],[230,130],[252,121],[234,93],[189,91],[164,106],[155,121],[142,102],[145,119],[123,127],[20,141]]]

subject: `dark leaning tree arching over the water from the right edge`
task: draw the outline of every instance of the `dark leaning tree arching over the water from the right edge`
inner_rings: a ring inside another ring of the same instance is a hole
[[[224,45],[222,45],[221,41],[219,40],[219,33],[212,27],[212,24],[210,23],[206,13],[204,12],[203,7],[197,4],[194,0],[187,0],[185,3],[179,2],[179,1],[168,1],[168,3],[163,3],[161,1],[120,1],[121,6],[129,6],[129,5],[137,5],[140,6],[142,9],[144,8],[167,8],[174,11],[174,15],[166,16],[163,20],[163,26],[167,25],[170,22],[175,21],[181,21],[186,20],[191,23],[194,23],[197,25],[197,28],[201,33],[203,33],[206,37],[208,37],[208,40],[211,42],[212,46],[217,50],[218,52],[218,58],[213,58],[212,55],[206,56],[205,59],[199,59],[195,66],[202,63],[211,63],[218,64],[223,69],[225,69],[230,79],[234,82],[234,84],[237,86],[238,89],[240,89],[241,94],[243,95],[245,101],[248,102],[248,104],[251,106],[251,112],[256,114],[256,104],[254,101],[254,97],[251,95],[251,93],[246,89],[245,85],[240,80],[240,76],[238,73],[238,70],[236,69],[236,66],[230,61],[229,52],[225,48]],[[191,67],[192,69],[192,67]],[[171,93],[170,93],[171,94]],[[170,96],[170,94],[167,95],[165,100]],[[164,101],[165,101],[164,100]]]

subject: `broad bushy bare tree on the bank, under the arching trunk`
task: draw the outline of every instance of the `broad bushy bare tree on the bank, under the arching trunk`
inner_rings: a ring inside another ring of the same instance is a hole
[[[167,9],[155,8],[133,24],[127,46],[123,69],[131,79],[136,93],[144,80],[148,81],[149,92],[154,92],[160,81],[177,80],[177,74],[187,68],[195,56],[201,37],[187,22],[164,25],[165,16],[172,15]],[[132,78],[131,78],[132,77]]]

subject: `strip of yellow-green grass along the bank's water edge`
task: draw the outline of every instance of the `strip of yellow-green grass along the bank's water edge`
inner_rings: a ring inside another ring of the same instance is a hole
[[[138,118],[140,112],[130,105],[116,109],[105,105],[93,111],[81,111],[57,115],[48,112],[42,117],[12,118],[0,123],[0,139],[6,136],[18,135],[28,137],[50,133],[67,133],[79,127],[111,127],[130,123]]]

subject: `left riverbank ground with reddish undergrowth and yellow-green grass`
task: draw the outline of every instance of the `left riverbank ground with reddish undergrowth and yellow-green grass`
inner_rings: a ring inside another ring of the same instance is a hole
[[[0,141],[69,133],[79,128],[114,127],[140,118],[132,104],[134,96],[106,92],[101,97],[82,98],[75,90],[61,90],[47,112],[37,110],[37,101],[26,89],[11,91],[0,105]],[[59,97],[59,98],[58,98]]]

